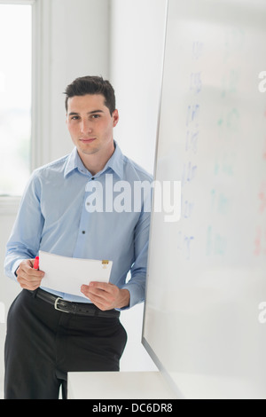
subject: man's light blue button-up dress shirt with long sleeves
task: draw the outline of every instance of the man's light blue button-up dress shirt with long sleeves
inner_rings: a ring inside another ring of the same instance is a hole
[[[6,275],[16,279],[15,271],[20,262],[34,258],[39,250],[60,256],[108,259],[113,261],[110,282],[129,290],[129,307],[143,302],[151,214],[145,209],[145,198],[150,196],[141,197],[138,210],[133,207],[133,194],[131,210],[128,210],[129,207],[121,212],[112,210],[110,201],[106,209],[106,195],[108,199],[110,195],[113,199],[121,195],[117,191],[112,194],[113,190],[106,190],[106,184],[113,185],[113,188],[119,185],[117,189],[121,189],[121,181],[126,181],[133,193],[135,182],[151,183],[152,180],[151,175],[121,153],[117,144],[106,167],[95,176],[84,167],[76,148],[58,161],[35,169],[22,196],[6,246]],[[93,212],[88,206],[86,208],[91,193],[96,195],[91,181],[102,185],[103,211]],[[93,280],[93,277],[90,279]],[[88,298],[82,296],[41,288],[68,301],[90,303]]]

